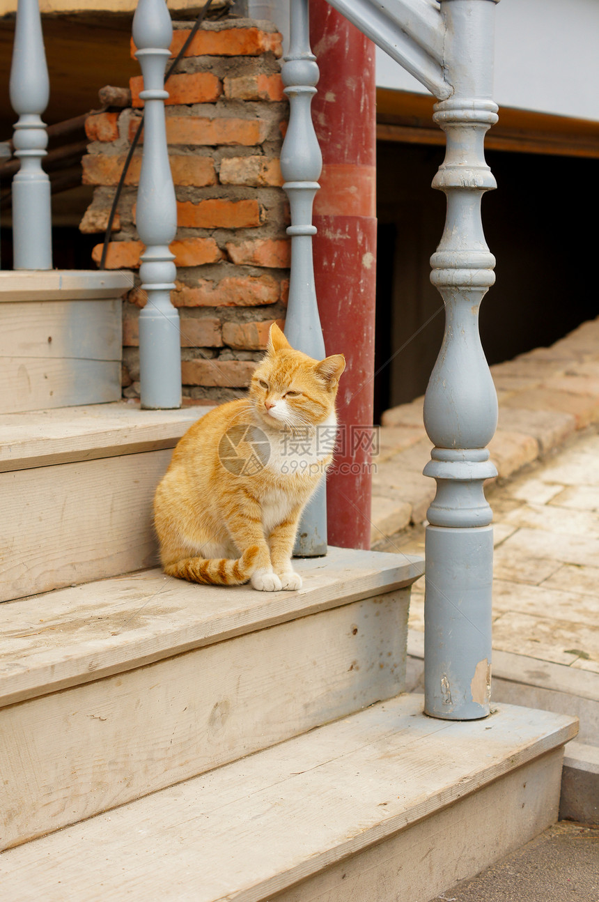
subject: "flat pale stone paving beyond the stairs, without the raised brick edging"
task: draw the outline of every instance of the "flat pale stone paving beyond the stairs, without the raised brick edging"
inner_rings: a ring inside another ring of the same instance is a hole
[[[487,492],[494,510],[493,647],[599,675],[599,432]],[[424,529],[377,545],[422,554]],[[410,626],[424,630],[424,586]],[[599,745],[599,723],[597,724]]]

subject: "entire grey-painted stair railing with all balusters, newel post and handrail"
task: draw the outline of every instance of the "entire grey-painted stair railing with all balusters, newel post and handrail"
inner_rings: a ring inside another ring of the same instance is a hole
[[[482,194],[495,188],[484,138],[496,120],[491,98],[496,0],[329,0],[341,14],[438,98],[434,119],[447,135],[433,180],[448,201],[431,281],[446,308],[446,327],[424,405],[434,448],[425,474],[437,482],[428,511],[425,599],[425,708],[449,719],[483,717],[490,708],[492,513],[484,481],[495,474],[486,445],[497,420],[495,389],[478,336],[478,308],[495,281],[495,260],[481,222]],[[390,12],[390,9],[392,12]],[[137,225],[146,244],[141,281],[141,403],[178,407],[181,371],[178,313],[170,303],[175,265],[168,244],[177,211],[168,166],[164,71],[171,40],[165,0],[140,0],[133,39],[144,76],[145,141]],[[310,116],[318,67],[308,41],[308,0],[291,0],[291,42],[283,69],[291,116],[282,153],[290,200],[292,268],[286,332],[306,353],[324,354],[313,281],[312,205],[321,155]],[[19,0],[11,98],[19,113],[14,146],[15,268],[51,268],[50,185],[41,170],[48,102],[37,0]],[[358,115],[358,114],[357,114]],[[326,548],[324,495],[304,518],[306,548]]]

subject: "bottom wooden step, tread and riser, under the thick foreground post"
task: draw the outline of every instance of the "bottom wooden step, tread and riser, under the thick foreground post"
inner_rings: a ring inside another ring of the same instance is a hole
[[[6,851],[11,902],[427,902],[553,823],[566,715],[403,695]]]

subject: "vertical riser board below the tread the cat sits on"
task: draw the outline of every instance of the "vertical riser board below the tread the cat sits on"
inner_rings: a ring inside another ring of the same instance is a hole
[[[0,848],[397,695],[408,603],[398,590],[0,709]]]

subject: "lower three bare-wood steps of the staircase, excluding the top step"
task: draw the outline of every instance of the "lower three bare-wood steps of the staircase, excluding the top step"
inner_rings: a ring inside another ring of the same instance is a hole
[[[201,409],[17,397],[0,417],[3,902],[426,902],[556,819],[575,718],[443,721],[404,694],[421,559],[331,548],[297,562],[299,592],[171,579],[151,496]]]

